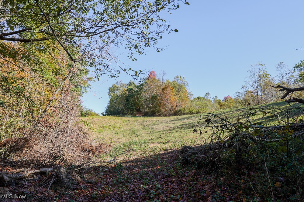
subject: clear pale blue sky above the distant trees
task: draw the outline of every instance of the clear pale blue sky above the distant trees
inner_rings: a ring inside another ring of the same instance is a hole
[[[119,58],[134,70],[164,70],[166,78],[185,76],[194,97],[210,92],[223,98],[240,91],[250,65],[261,62],[275,75],[275,65],[292,68],[304,59],[304,1],[202,1],[189,0],[173,15],[164,15],[177,33],[163,35],[160,53],[148,50],[137,61]],[[168,21],[167,20],[167,21]],[[119,50],[118,50],[119,51]],[[130,81],[121,74],[117,80]],[[83,105],[101,113],[116,80],[102,76],[82,97]]]

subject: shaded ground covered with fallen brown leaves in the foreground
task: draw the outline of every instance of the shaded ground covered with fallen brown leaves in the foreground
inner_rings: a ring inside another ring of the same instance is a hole
[[[19,184],[10,191],[27,194],[31,201],[246,201],[243,182],[205,175],[179,164],[179,151],[133,158],[116,166],[95,167],[82,174],[83,180],[63,190],[43,182],[52,173]],[[43,186],[44,185],[44,186]],[[81,186],[85,185],[85,186]],[[33,188],[31,188],[33,187]],[[236,189],[237,187],[237,189]]]

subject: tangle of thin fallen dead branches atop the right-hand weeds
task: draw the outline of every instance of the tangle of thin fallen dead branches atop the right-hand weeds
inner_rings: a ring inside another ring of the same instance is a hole
[[[297,98],[295,98],[297,99]],[[299,100],[297,100],[299,101]],[[249,111],[251,108],[249,109]],[[272,116],[279,116],[285,118],[291,118],[290,114],[284,114],[283,111],[280,110],[276,114],[275,112],[271,111],[271,109],[266,109],[266,111],[262,108],[257,108],[254,111],[255,113],[263,113],[263,114],[271,114]],[[250,117],[249,113],[247,114],[248,117]],[[257,122],[252,124],[248,121],[248,117],[244,117],[244,120],[238,119],[236,122],[228,121],[227,117],[226,119],[223,118],[220,115],[213,114],[213,113],[207,113],[202,114],[200,116],[199,122],[202,121],[202,116],[207,117],[205,122],[207,122],[207,125],[203,125],[205,128],[210,128],[210,130],[213,130],[212,136],[211,136],[211,143],[214,143],[214,140],[217,139],[216,142],[219,140],[222,141],[222,143],[229,142],[228,147],[233,145],[233,140],[235,138],[249,138],[251,140],[255,141],[267,141],[267,142],[276,142],[280,141],[282,139],[286,138],[286,135],[278,135],[285,129],[288,129],[288,131],[291,131],[292,133],[288,135],[290,138],[299,137],[304,134],[304,124],[301,122],[301,120],[293,119],[295,122],[289,123],[286,121],[283,121],[286,125],[275,125],[275,126],[265,126],[263,125],[263,122]],[[210,117],[214,117],[214,119],[210,119]],[[203,124],[203,123],[202,123]],[[209,125],[208,125],[209,124]],[[206,129],[205,129],[206,131]],[[226,131],[226,132],[224,132]],[[255,134],[255,132],[258,132],[258,134]],[[227,134],[226,136],[223,134]],[[253,135],[255,134],[255,135]]]

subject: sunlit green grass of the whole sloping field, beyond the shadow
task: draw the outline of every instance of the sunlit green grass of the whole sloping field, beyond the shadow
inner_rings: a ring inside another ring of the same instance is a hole
[[[293,104],[294,105],[294,104]],[[289,106],[285,102],[264,104],[263,107],[282,110]],[[252,108],[248,110],[248,108]],[[245,113],[254,112],[259,106],[216,111],[229,120],[237,121]],[[89,128],[91,137],[101,143],[112,145],[109,154],[102,157],[110,158],[125,152],[124,156],[136,157],[157,154],[171,149],[180,149],[183,145],[204,143],[209,133],[199,135],[203,127],[198,125],[200,114],[172,117],[136,117],[136,116],[98,116],[85,117],[82,121]],[[253,122],[264,125],[278,125],[280,120],[271,114],[257,113],[250,116]],[[197,133],[193,133],[193,128]]]

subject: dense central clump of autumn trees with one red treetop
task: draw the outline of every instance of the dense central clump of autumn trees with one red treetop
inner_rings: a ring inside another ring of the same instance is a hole
[[[132,115],[142,111],[151,116],[168,116],[185,108],[192,96],[185,77],[173,81],[157,78],[151,71],[144,82],[124,84],[117,81],[109,88],[106,115]]]

